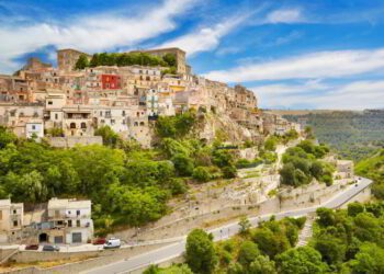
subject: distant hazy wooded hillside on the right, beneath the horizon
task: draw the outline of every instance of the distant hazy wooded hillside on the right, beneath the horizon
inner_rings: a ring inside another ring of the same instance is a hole
[[[332,112],[284,117],[295,122],[305,119],[318,140],[337,149],[341,158],[359,161],[384,146],[384,112]]]

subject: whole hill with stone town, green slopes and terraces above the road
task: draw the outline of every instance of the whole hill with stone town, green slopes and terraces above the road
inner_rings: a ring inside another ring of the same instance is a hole
[[[241,216],[296,216],[370,195],[371,181],[357,183],[353,162],[302,121],[260,110],[240,84],[194,75],[179,48],[60,49],[57,65],[31,58],[0,76],[0,243],[15,244],[4,262],[72,254],[86,270],[89,256],[100,256],[95,267],[183,246],[193,228],[217,240]],[[105,142],[105,128],[134,148]],[[112,259],[98,244],[109,238],[124,241]]]

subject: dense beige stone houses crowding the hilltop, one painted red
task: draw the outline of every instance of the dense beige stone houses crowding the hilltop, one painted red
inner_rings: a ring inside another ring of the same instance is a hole
[[[57,65],[31,58],[13,76],[0,75],[0,125],[20,137],[47,137],[53,146],[101,142],[94,130],[108,125],[127,139],[150,147],[150,125],[159,115],[187,110],[228,115],[260,139],[296,125],[257,109],[255,93],[196,76],[179,48],[144,50],[176,57],[176,73],[165,67],[99,66],[75,69],[76,49],[57,52]]]

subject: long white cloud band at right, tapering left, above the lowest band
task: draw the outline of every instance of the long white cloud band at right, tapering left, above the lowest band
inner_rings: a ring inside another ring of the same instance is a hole
[[[216,70],[206,78],[226,82],[339,78],[384,68],[384,48],[374,50],[319,52]]]

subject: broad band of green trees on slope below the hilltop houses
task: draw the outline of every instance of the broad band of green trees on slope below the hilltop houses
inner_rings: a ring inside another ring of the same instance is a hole
[[[140,226],[163,216],[167,201],[188,190],[188,181],[236,176],[231,150],[194,138],[194,112],[160,117],[157,148],[142,149],[110,127],[95,135],[103,146],[55,149],[47,142],[18,139],[0,128],[0,198],[26,204],[50,197],[92,199],[101,233],[118,225]]]

